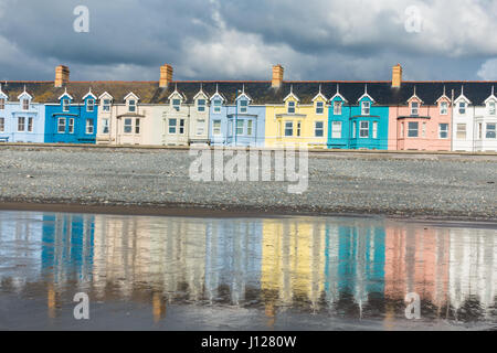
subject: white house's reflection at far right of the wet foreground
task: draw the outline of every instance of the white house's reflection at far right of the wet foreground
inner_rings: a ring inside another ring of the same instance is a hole
[[[453,228],[450,238],[448,296],[456,318],[489,314],[497,295],[495,232]]]

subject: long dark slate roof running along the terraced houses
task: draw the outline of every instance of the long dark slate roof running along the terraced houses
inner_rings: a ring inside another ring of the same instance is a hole
[[[219,92],[226,98],[228,104],[233,104],[236,96],[245,86],[245,93],[253,99],[252,104],[283,104],[283,99],[293,92],[300,99],[302,104],[311,104],[311,99],[318,94],[319,85],[321,93],[329,99],[337,93],[339,85],[340,94],[350,103],[357,104],[359,97],[364,94],[364,86],[368,85],[368,94],[378,105],[405,105],[408,99],[414,94],[424,101],[424,105],[435,105],[442,96],[445,86],[445,94],[454,98],[461,95],[461,87],[464,86],[464,95],[474,104],[483,105],[491,94],[491,86],[497,82],[402,82],[401,88],[392,88],[390,82],[284,82],[282,87],[275,89],[271,87],[271,82],[173,82],[168,88],[160,88],[158,82],[70,82],[66,85],[67,93],[73,96],[75,103],[81,103],[89,87],[97,97],[104,92],[108,92],[114,97],[114,103],[124,103],[124,97],[130,92],[135,93],[140,104],[167,104],[168,97],[178,87],[178,90],[187,97],[186,103],[192,103],[193,97],[199,93],[200,86],[210,97]],[[2,83],[1,89],[9,96],[10,100],[24,90],[24,85],[33,101],[36,103],[59,103],[59,97],[64,93],[64,87],[55,88],[53,82],[7,82]]]

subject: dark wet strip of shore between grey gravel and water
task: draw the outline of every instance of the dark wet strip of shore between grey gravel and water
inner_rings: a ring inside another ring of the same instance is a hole
[[[290,210],[292,207],[240,206],[240,205],[199,205],[199,204],[119,204],[119,203],[71,203],[71,202],[28,202],[28,201],[1,201],[0,211],[22,212],[55,212],[55,213],[83,213],[107,214],[129,216],[161,216],[161,217],[212,217],[212,218],[276,218],[276,217],[361,217],[384,218],[393,222],[423,223],[444,226],[464,226],[472,224],[483,228],[497,229],[497,218],[470,217],[464,215],[433,215],[430,213],[381,213],[364,212],[360,210],[340,212],[334,210],[311,212],[309,210]]]

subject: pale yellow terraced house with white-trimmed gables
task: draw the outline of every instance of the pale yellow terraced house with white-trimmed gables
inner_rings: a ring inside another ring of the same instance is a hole
[[[310,101],[300,101],[294,86],[282,104],[266,106],[266,147],[326,148],[328,99],[319,93]]]

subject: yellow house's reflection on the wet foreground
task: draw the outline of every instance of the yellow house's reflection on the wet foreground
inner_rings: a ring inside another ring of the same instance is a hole
[[[326,224],[265,220],[261,289],[266,303],[319,304],[324,290]]]

